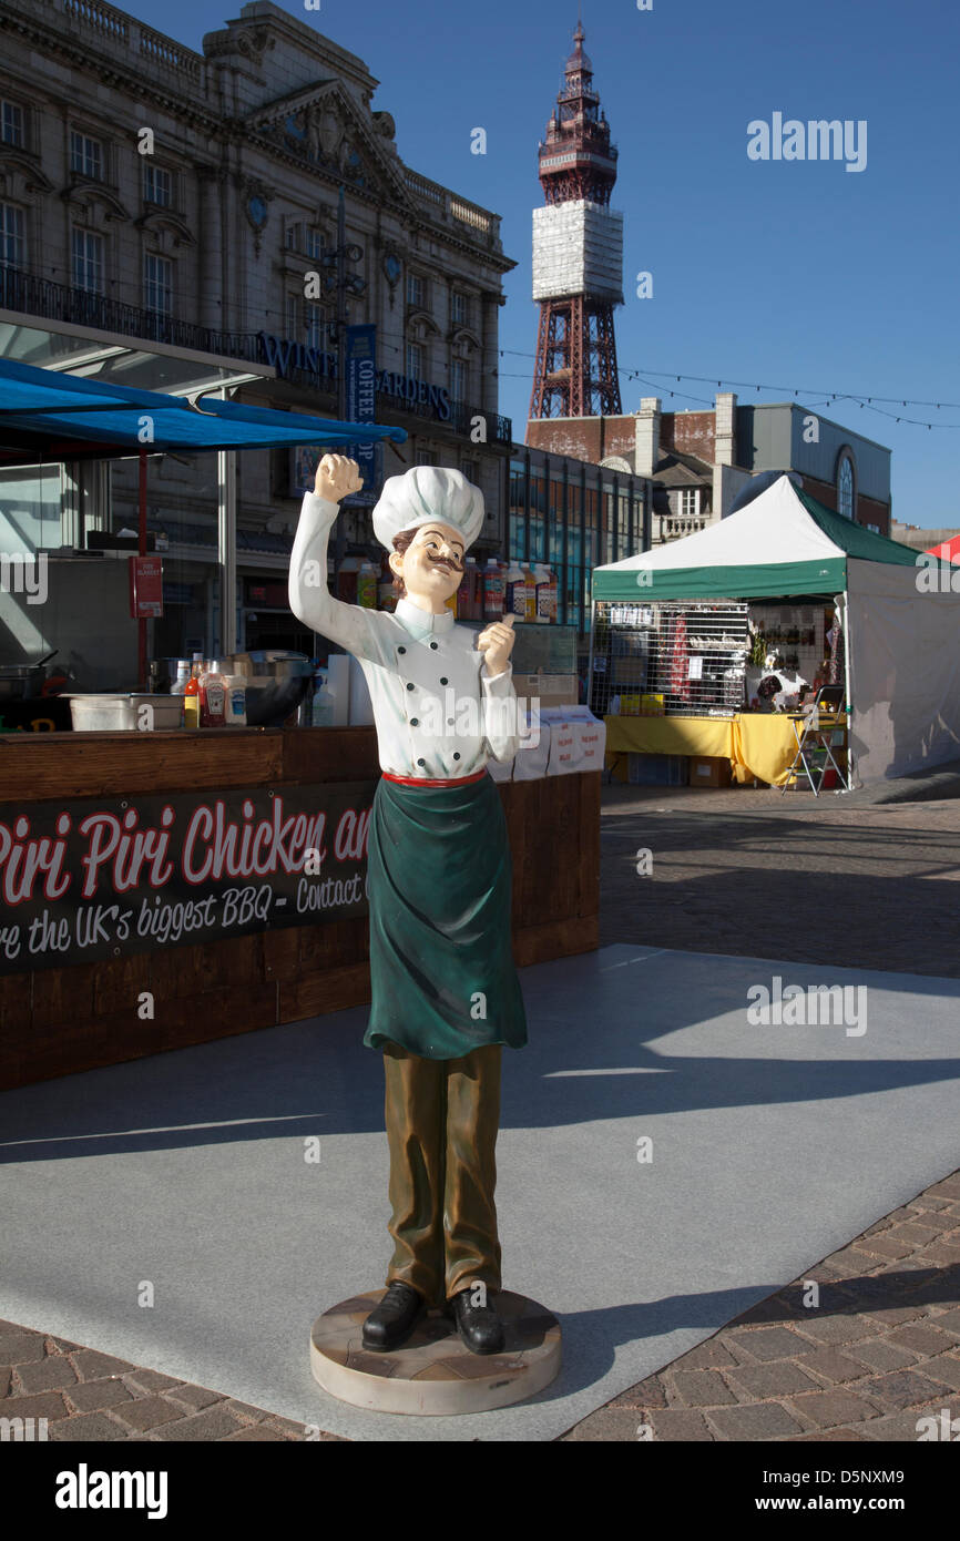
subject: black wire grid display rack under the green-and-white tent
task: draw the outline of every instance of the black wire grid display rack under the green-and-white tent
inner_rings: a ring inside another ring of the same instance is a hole
[[[749,606],[735,599],[593,607],[595,717],[732,717],[744,704]]]

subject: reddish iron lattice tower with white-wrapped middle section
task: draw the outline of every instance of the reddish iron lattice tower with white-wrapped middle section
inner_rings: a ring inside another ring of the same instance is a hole
[[[539,146],[545,206],[533,210],[539,304],[530,418],[621,413],[613,307],[623,305],[623,214],[610,208],[616,149],[576,23],[566,83]]]

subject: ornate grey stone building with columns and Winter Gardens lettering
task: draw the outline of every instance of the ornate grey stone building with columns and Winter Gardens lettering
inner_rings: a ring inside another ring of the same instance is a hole
[[[498,321],[515,264],[496,214],[404,165],[361,59],[268,0],[202,54],[102,0],[3,0],[0,59],[0,324],[63,328],[74,350],[80,330],[105,356],[112,339],[236,376],[247,364],[236,399],[336,418],[342,188],[347,321],[376,325],[376,421],[408,433],[382,475],[461,467],[487,501],[478,544],[502,550]],[[297,470],[288,452],[239,459],[242,576],[276,575]],[[149,522],[182,589],[216,556],[213,461],[151,465]],[[114,525],[129,522],[133,467],[108,484]],[[345,532],[347,552],[376,549],[368,510]]]

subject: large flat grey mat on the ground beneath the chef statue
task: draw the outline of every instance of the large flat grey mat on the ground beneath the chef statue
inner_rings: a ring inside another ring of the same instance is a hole
[[[866,986],[868,1031],[750,1026],[775,974]],[[504,1287],[564,1333],[535,1401],[404,1418],[310,1375],[390,1254],[365,1008],[0,1094],[0,1316],[353,1439],[553,1439],[957,1167],[955,980],[632,946],[521,980]]]

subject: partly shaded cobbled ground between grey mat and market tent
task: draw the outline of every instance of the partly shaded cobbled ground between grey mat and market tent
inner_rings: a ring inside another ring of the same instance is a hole
[[[958,881],[960,798],[603,789],[601,946],[960,979]]]

